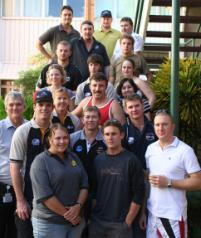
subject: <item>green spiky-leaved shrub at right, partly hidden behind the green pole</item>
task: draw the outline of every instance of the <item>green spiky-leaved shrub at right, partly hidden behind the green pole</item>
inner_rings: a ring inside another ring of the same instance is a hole
[[[161,65],[152,83],[155,108],[170,105],[171,61]],[[183,59],[179,67],[179,137],[198,152],[201,144],[201,60]]]

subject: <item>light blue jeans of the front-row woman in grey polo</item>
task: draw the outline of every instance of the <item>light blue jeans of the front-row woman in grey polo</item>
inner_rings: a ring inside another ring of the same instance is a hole
[[[80,238],[85,226],[82,219],[77,226],[66,224],[56,224],[45,219],[32,217],[34,238]]]

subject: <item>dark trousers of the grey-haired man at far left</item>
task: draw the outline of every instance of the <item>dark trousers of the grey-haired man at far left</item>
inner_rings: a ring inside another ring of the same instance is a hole
[[[16,238],[14,211],[16,208],[16,199],[13,187],[0,182],[0,237]],[[11,202],[5,202],[5,194],[9,193],[12,198]]]

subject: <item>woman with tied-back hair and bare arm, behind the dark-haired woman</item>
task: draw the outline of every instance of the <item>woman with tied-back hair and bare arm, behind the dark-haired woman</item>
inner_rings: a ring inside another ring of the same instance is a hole
[[[146,81],[143,81],[135,76],[135,63],[132,59],[125,59],[122,63],[122,75],[124,78],[133,79],[142,97],[148,100],[150,108],[152,109],[156,100],[154,91],[150,88]]]

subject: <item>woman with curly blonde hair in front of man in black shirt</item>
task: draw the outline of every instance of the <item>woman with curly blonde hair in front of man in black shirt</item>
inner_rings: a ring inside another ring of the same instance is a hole
[[[45,87],[44,89],[51,91],[54,94],[54,91],[61,88],[66,79],[66,73],[63,67],[59,64],[52,64],[49,66],[47,71],[47,84],[49,86]],[[75,108],[74,100],[75,100],[75,93],[70,89],[67,89],[69,98],[70,98],[70,111]]]

